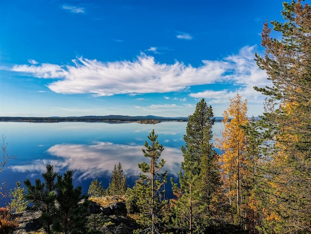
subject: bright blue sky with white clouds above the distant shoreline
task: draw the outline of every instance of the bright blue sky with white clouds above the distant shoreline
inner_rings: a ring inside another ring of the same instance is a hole
[[[253,86],[261,30],[283,0],[0,1],[0,116],[215,116]]]

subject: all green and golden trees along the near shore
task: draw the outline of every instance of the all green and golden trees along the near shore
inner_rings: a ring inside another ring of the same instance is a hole
[[[304,0],[283,5],[285,21],[270,22],[272,28],[264,23],[265,53],[255,54],[271,81],[269,87],[254,87],[266,96],[259,119],[247,116],[247,100],[236,94],[224,111],[221,136],[214,138],[213,109],[202,99],[189,116],[179,181],[171,179],[172,199],[164,196],[164,147],[154,130],[133,188],[121,163],[107,189],[92,181],[89,196],[126,194],[127,212],[140,225],[134,233],[311,233],[311,6]],[[10,160],[5,149],[3,144],[3,159]],[[87,200],[80,202],[85,197],[73,186],[73,171],[59,175],[47,165],[42,177],[43,183],[24,181],[27,194],[20,183],[11,191],[13,212],[24,209],[27,199],[43,212],[48,233],[86,233],[87,227],[104,225],[94,223],[97,216],[87,224]]]

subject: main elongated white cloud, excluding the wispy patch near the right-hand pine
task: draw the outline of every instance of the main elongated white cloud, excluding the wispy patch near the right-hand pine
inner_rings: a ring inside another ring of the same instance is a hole
[[[63,94],[89,93],[95,96],[115,94],[146,94],[183,91],[192,85],[213,84],[222,80],[230,64],[222,61],[203,61],[194,68],[176,61],[157,63],[152,56],[141,54],[137,60],[102,63],[82,57],[75,65],[54,64],[15,65],[11,70],[42,78],[63,78],[48,85]]]

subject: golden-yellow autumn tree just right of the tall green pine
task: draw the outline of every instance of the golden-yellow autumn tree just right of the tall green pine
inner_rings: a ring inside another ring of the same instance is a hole
[[[241,101],[241,96],[236,95],[230,99],[230,106],[224,112],[224,131],[222,138],[217,139],[217,146],[222,151],[220,167],[225,196],[233,209],[233,224],[242,226],[244,215],[243,204],[245,204],[246,178],[247,178],[247,145],[248,137],[241,126],[248,122],[246,116],[247,101]]]

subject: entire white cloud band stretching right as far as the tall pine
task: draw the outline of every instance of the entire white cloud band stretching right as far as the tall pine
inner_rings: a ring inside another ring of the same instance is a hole
[[[228,103],[229,97],[236,92],[247,99],[257,100],[260,94],[253,90],[253,86],[270,85],[265,71],[260,70],[254,61],[253,46],[246,46],[238,54],[222,60],[203,60],[199,67],[178,61],[174,64],[158,63],[153,56],[144,53],[134,61],[100,62],[79,57],[73,63],[66,66],[47,63],[15,65],[9,70],[38,78],[55,78],[56,81],[47,85],[55,93],[135,96],[186,91],[190,97],[207,98],[211,103]],[[193,86],[224,83],[227,87],[223,90],[210,91],[207,88],[191,92]],[[167,96],[164,98],[168,99]],[[259,101],[262,104],[262,100]]]

